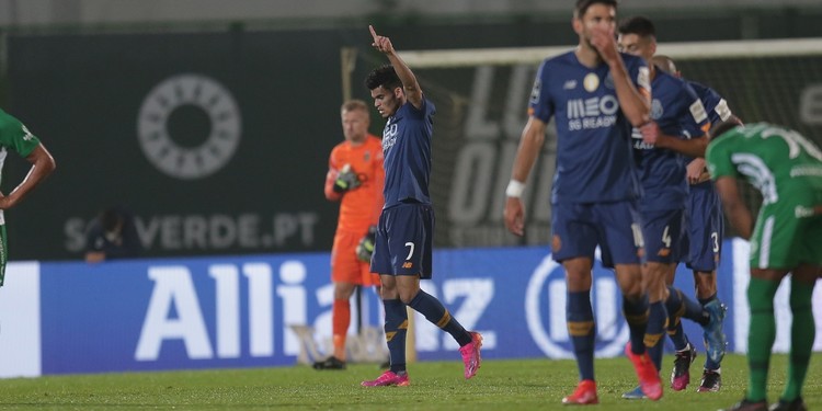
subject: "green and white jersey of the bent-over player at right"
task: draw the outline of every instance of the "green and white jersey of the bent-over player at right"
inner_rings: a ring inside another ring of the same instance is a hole
[[[744,176],[763,205],[788,193],[822,192],[822,150],[799,133],[767,123],[739,126],[708,146],[705,153],[713,180]]]

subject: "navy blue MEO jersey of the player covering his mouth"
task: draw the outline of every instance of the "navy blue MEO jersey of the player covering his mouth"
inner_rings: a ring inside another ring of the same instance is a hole
[[[621,54],[628,75],[650,92],[648,67]],[[582,65],[573,52],[539,66],[528,114],[556,116],[557,168],[551,203],[598,203],[641,194],[631,153],[631,124],[619,110],[608,65]]]

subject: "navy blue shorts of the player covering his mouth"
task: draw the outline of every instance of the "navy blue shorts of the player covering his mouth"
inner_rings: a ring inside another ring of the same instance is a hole
[[[606,267],[642,262],[642,227],[635,201],[562,203],[551,209],[553,260],[594,260],[598,244]]]

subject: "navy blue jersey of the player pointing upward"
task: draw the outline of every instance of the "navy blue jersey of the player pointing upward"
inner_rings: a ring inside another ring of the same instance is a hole
[[[388,117],[383,129],[383,164],[386,170],[383,209],[407,201],[431,204],[429,181],[435,112],[434,103],[423,98],[420,110],[407,102]]]

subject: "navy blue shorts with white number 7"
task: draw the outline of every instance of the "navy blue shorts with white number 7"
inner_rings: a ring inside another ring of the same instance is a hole
[[[431,278],[434,207],[403,203],[379,215],[372,273]]]

